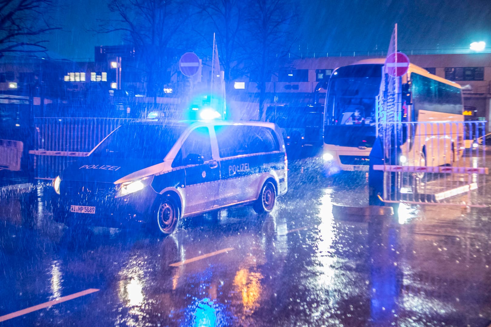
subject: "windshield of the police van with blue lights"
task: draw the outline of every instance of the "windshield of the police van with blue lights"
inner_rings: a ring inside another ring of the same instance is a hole
[[[185,128],[185,126],[123,125],[111,133],[91,156],[163,160]]]

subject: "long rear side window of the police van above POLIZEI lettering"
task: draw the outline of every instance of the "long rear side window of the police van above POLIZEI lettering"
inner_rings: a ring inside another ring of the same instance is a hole
[[[279,151],[273,131],[267,127],[247,125],[215,126],[220,157]]]

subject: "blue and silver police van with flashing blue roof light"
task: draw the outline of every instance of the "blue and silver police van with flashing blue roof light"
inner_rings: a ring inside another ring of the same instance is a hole
[[[287,156],[272,123],[139,121],[112,131],[53,186],[58,222],[139,222],[170,234],[181,218],[233,205],[272,211],[287,191]]]

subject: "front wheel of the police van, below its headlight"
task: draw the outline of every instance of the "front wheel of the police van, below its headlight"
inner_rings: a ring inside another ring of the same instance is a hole
[[[150,224],[151,231],[154,234],[172,234],[179,222],[179,205],[169,194],[164,195],[156,203],[156,210]]]

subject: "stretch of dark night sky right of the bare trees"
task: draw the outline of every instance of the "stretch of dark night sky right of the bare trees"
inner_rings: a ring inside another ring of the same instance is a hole
[[[311,30],[305,51],[387,50],[398,23],[401,50],[491,46],[491,0],[311,0],[305,3]]]

